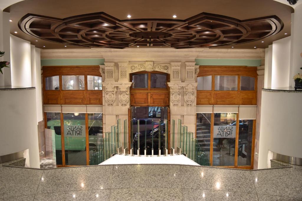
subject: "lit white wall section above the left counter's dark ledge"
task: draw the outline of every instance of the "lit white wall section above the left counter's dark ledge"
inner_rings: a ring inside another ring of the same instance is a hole
[[[11,85],[31,87],[31,43],[11,35]]]

